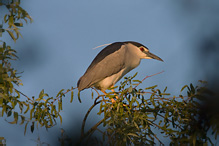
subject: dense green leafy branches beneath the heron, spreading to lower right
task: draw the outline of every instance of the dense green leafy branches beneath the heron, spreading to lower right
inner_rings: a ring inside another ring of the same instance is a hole
[[[125,78],[119,92],[106,95],[109,99],[119,97],[115,103],[104,98],[95,100],[93,107],[100,103],[98,114],[103,114],[104,118],[82,134],[81,141],[89,141],[94,131],[99,131],[98,126],[103,124],[106,129],[102,131],[102,143],[105,141],[106,145],[153,145],[155,142],[164,145],[162,137],[170,139],[171,145],[213,144],[208,131],[216,123],[211,125],[201,114],[202,93],[206,87],[186,85],[181,92],[187,89],[187,96],[176,97],[166,93],[167,88],[163,91],[157,89],[157,85],[136,89],[141,81],[134,80],[134,77]],[[97,99],[100,97],[104,95]],[[217,136],[218,128],[213,128],[213,132]]]

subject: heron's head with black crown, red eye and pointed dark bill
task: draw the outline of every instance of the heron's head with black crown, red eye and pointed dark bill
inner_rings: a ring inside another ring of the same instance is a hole
[[[132,50],[134,50],[134,53],[137,54],[141,59],[156,59],[159,61],[163,61],[157,55],[154,55],[151,52],[149,52],[149,49],[147,47],[138,42],[128,41],[125,43],[131,45],[131,48],[133,48]]]

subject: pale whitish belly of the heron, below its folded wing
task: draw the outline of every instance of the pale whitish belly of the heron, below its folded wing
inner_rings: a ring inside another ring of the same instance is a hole
[[[129,72],[127,69],[122,69],[117,74],[114,74],[112,76],[109,76],[96,84],[94,84],[94,87],[100,90],[106,90],[107,88],[113,86],[118,80],[120,80],[123,75],[125,75],[127,72]]]

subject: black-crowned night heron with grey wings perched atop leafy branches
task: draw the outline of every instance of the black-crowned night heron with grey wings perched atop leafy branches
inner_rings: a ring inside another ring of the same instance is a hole
[[[112,43],[100,51],[79,79],[78,91],[95,87],[106,94],[105,90],[113,87],[125,74],[136,68],[141,59],[163,61],[140,43],[133,41]]]

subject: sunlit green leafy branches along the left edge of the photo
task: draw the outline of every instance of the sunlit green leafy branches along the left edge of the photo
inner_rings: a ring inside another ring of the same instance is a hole
[[[16,40],[21,36],[20,27],[23,27],[23,22],[32,22],[30,15],[20,6],[20,0],[0,1],[0,7],[6,8],[8,13],[5,14],[3,24],[0,25],[0,36],[7,32],[11,39]],[[39,96],[29,98],[15,87],[22,85],[20,74],[11,66],[11,61],[16,60],[15,49],[7,45],[1,40],[0,45],[0,116],[13,115],[13,121],[10,124],[17,124],[20,117],[20,124],[25,123],[25,130],[29,123],[30,129],[33,132],[35,125],[50,128],[56,124],[56,119],[59,118],[62,122],[60,111],[62,110],[62,97],[64,97],[64,89],[60,90],[55,98],[49,97],[42,90]],[[71,89],[72,90],[72,89]],[[69,92],[70,89],[67,90]],[[67,93],[66,92],[66,93]],[[73,91],[72,91],[73,93]],[[23,96],[24,98],[21,98]],[[73,99],[73,97],[72,97]],[[72,100],[71,100],[72,101]],[[17,112],[16,107],[20,109]],[[29,114],[29,116],[27,116]]]

